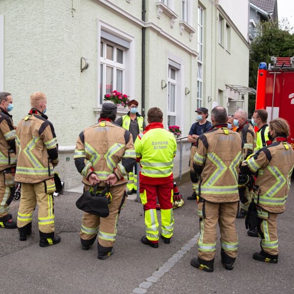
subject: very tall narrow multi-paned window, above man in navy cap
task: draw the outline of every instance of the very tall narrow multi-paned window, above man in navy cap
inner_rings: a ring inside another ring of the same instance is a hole
[[[203,25],[204,25],[204,11],[198,6],[198,64],[197,64],[197,108],[202,106],[203,98]]]

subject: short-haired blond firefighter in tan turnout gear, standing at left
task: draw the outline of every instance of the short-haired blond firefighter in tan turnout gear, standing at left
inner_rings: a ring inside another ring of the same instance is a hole
[[[38,204],[40,246],[60,242],[54,234],[53,167],[58,164],[58,147],[52,123],[45,115],[47,98],[36,92],[30,96],[31,110],[16,129],[18,164],[15,181],[22,183],[22,196],[17,216],[20,240],[31,234],[32,213]]]

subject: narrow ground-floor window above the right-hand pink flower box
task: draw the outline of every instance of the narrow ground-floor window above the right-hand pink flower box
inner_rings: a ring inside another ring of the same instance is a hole
[[[169,66],[168,77],[168,125],[175,125],[176,121],[176,78],[177,70]]]

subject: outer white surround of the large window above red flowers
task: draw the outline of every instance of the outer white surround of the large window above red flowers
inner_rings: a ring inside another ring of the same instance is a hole
[[[135,51],[135,37],[131,36],[130,34],[113,27],[111,25],[108,25],[98,19],[97,21],[97,27],[98,27],[98,38],[97,38],[97,109],[95,111],[99,111],[101,109],[101,104],[100,104],[100,42],[104,41],[101,39],[101,30],[107,31],[110,34],[114,36],[118,36],[119,38],[129,42],[129,49],[124,49],[124,74],[123,74],[123,94],[128,95],[130,98],[135,97],[135,83],[136,83],[136,76],[135,76],[135,64],[136,64],[136,51]],[[105,40],[107,43],[108,41]],[[109,42],[110,44],[111,42]],[[120,46],[115,45],[117,48],[121,49]],[[106,68],[106,67],[105,67]],[[106,78],[106,75],[104,74],[104,77]],[[115,80],[115,79],[114,79]],[[115,80],[116,81],[116,80]],[[116,90],[116,89],[114,89]],[[104,94],[102,93],[102,99],[104,98]],[[104,102],[102,100],[102,102]]]

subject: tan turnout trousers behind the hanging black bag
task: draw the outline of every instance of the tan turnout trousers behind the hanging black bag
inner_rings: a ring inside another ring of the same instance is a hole
[[[117,234],[117,222],[119,219],[119,213],[123,207],[126,197],[125,197],[125,187],[126,183],[119,186],[114,186],[110,188],[110,194],[112,195],[112,201],[109,205],[109,216],[107,218],[100,218],[98,216],[92,215],[90,213],[84,212],[82,219],[82,226],[80,231],[80,238],[82,244],[87,244],[83,242],[86,240],[96,239],[98,234],[98,244],[101,248],[98,251],[109,252],[115,242]],[[91,187],[85,185],[85,190],[89,190]],[[103,187],[102,189],[103,190]],[[93,242],[91,242],[93,244]],[[90,245],[92,245],[90,244]]]

